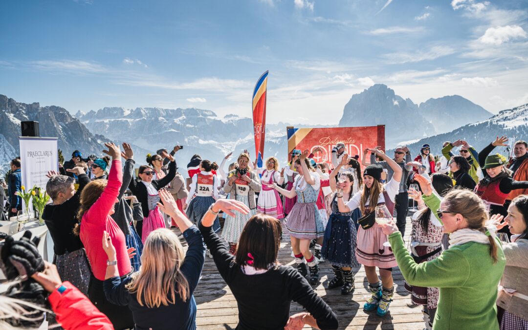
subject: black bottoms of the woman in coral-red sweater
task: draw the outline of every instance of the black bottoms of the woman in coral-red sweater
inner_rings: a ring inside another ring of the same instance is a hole
[[[121,279],[125,277],[123,276]],[[88,297],[93,305],[110,319],[110,322],[112,322],[116,330],[134,328],[134,319],[128,306],[119,306],[110,303],[106,299],[105,291],[103,290],[103,281],[98,280],[93,275],[88,285]]]

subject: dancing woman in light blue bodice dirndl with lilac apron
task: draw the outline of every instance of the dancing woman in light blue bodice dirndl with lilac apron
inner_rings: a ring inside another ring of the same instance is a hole
[[[317,259],[310,251],[310,241],[323,237],[323,219],[317,209],[320,177],[312,172],[312,165],[308,161],[306,149],[295,161],[295,169],[299,173],[290,191],[273,184],[279,193],[285,197],[297,196],[297,203],[286,217],[286,228],[290,232],[291,248],[294,251],[297,270],[301,275],[307,275],[306,263],[310,269],[310,284],[317,285],[319,281],[319,266]]]

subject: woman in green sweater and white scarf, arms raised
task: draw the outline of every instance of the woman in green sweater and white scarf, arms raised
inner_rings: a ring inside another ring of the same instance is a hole
[[[382,224],[403,277],[410,285],[440,289],[433,329],[497,330],[495,288],[505,258],[494,227],[485,227],[489,216],[484,202],[471,191],[457,189],[440,201],[425,177],[417,175],[416,180],[427,207],[438,210],[437,219],[450,234],[450,246],[438,258],[418,265],[396,225]]]

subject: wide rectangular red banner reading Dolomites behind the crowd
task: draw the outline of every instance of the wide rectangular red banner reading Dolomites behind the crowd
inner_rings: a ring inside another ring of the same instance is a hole
[[[332,165],[332,148],[338,142],[345,144],[345,152],[350,156],[363,157],[365,148],[380,146],[385,150],[385,125],[361,127],[294,128],[287,127],[288,160],[294,149],[308,149],[310,152],[320,147],[323,152],[314,154],[317,163]],[[361,162],[360,162],[361,163]]]

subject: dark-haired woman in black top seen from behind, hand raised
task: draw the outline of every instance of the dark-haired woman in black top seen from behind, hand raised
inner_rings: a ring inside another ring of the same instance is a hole
[[[199,224],[205,244],[213,254],[220,275],[228,284],[239,310],[237,329],[336,329],[337,316],[319,298],[306,279],[294,268],[280,265],[279,220],[269,215],[253,215],[240,235],[235,256],[212,230],[218,212],[230,216],[247,214],[247,205],[233,200],[216,201]],[[289,317],[290,303],[296,301],[308,313]],[[289,319],[288,319],[289,317]]]

